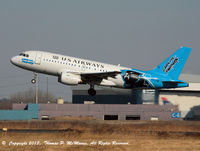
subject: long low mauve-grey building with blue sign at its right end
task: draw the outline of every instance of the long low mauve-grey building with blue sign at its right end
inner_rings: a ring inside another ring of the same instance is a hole
[[[27,104],[13,104],[13,110],[24,110]],[[100,120],[180,120],[174,105],[129,104],[39,104],[38,119],[61,116],[86,116]]]

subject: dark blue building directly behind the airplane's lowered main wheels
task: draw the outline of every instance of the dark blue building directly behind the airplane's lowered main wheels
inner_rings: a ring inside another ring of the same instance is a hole
[[[90,96],[87,87],[79,86],[72,90],[73,104],[158,104],[156,90],[129,90],[117,88],[96,88],[96,95]]]

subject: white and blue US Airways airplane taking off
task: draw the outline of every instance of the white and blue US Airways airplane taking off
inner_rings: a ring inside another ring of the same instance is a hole
[[[34,73],[58,77],[66,85],[89,84],[88,94],[96,95],[95,85],[126,89],[162,89],[188,87],[179,75],[191,48],[181,47],[156,68],[142,71],[45,51],[25,51],[11,63]],[[36,83],[36,78],[31,80]]]

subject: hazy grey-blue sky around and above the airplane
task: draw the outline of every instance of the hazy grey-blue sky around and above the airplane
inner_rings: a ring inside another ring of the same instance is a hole
[[[0,0],[0,98],[34,88],[33,73],[10,63],[26,50],[149,70],[181,46],[192,48],[183,73],[200,74],[199,0]],[[46,91],[46,75],[40,89]],[[49,91],[71,88],[48,77]]]

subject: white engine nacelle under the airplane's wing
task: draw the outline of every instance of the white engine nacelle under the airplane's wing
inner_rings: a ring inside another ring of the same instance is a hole
[[[58,82],[62,84],[67,84],[67,85],[77,85],[81,83],[81,77],[80,75],[76,75],[73,73],[62,73],[61,76],[58,78]]]

